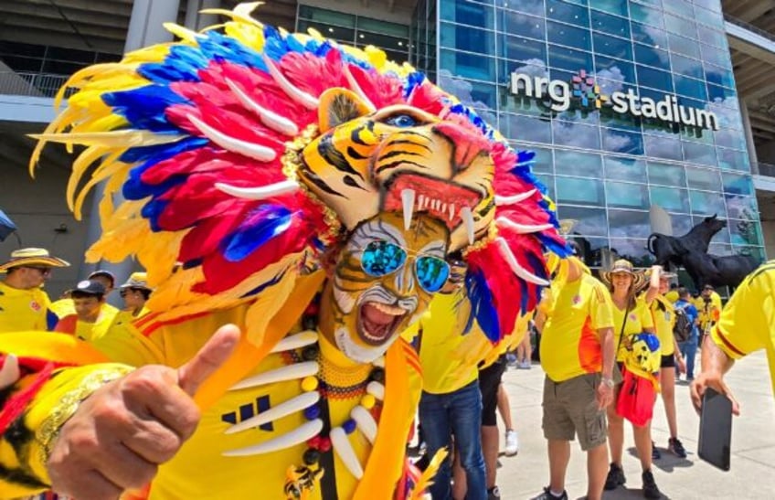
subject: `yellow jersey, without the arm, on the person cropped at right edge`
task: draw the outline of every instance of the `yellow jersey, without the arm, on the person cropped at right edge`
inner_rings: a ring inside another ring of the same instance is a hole
[[[775,261],[763,264],[740,283],[712,336],[733,359],[766,349],[775,395]]]

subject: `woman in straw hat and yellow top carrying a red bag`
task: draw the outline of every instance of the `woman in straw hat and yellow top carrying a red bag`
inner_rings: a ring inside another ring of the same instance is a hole
[[[641,271],[635,271],[630,261],[620,259],[613,263],[609,271],[600,273],[600,278],[608,285],[613,302],[613,333],[616,347],[616,361],[623,364],[628,354],[628,341],[631,335],[642,332],[654,333],[653,318],[649,306],[637,296],[645,283]],[[619,397],[621,384],[615,388],[614,400]],[[626,482],[621,467],[621,455],[624,452],[624,419],[616,411],[616,405],[608,408],[608,433],[610,446],[610,471],[606,478],[605,489],[615,490]],[[651,425],[632,425],[635,448],[641,460],[642,489],[646,498],[659,498],[660,492],[652,473],[652,435]]]

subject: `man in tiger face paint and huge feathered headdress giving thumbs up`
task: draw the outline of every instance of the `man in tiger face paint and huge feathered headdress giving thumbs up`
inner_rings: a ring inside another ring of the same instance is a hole
[[[253,6],[81,70],[38,136],[31,165],[87,146],[68,193],[79,217],[105,183],[87,258],[136,257],[152,314],[93,345],[2,337],[0,496],[415,497],[399,334],[447,254],[498,342],[535,308],[543,252],[565,252],[529,154],[408,65]]]

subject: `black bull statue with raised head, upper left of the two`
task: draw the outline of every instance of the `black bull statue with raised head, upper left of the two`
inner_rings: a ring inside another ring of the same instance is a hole
[[[669,270],[670,264],[683,265],[687,253],[707,254],[710,239],[718,231],[727,227],[726,220],[720,220],[717,215],[706,217],[702,222],[689,230],[684,236],[674,237],[662,233],[652,233],[646,242],[649,251],[656,259],[656,264]]]

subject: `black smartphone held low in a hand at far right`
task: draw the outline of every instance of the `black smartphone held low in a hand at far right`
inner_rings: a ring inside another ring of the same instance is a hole
[[[706,388],[700,412],[697,455],[722,471],[728,471],[731,442],[732,401],[716,390]]]

